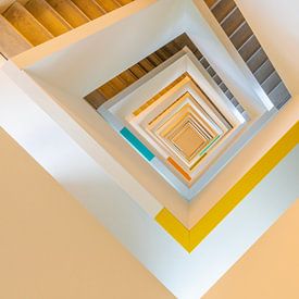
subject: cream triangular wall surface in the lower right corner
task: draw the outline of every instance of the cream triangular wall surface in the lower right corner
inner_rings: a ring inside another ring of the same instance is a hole
[[[299,200],[203,297],[299,298]]]

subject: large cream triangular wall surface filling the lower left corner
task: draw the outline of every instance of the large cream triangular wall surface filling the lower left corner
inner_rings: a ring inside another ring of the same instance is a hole
[[[173,298],[2,129],[0,187],[0,298]]]

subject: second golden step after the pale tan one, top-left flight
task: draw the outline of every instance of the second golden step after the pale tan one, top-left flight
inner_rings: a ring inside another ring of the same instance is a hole
[[[25,8],[53,36],[62,35],[72,29],[71,25],[58,14],[45,0],[29,0]]]

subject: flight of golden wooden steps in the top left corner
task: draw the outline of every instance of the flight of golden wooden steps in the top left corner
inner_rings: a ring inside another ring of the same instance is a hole
[[[0,52],[12,58],[133,1],[14,1],[0,14]]]

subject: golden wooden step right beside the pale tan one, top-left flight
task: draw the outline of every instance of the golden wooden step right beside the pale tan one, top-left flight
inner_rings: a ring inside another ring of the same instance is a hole
[[[3,16],[34,46],[53,38],[52,34],[18,2],[14,2]]]

